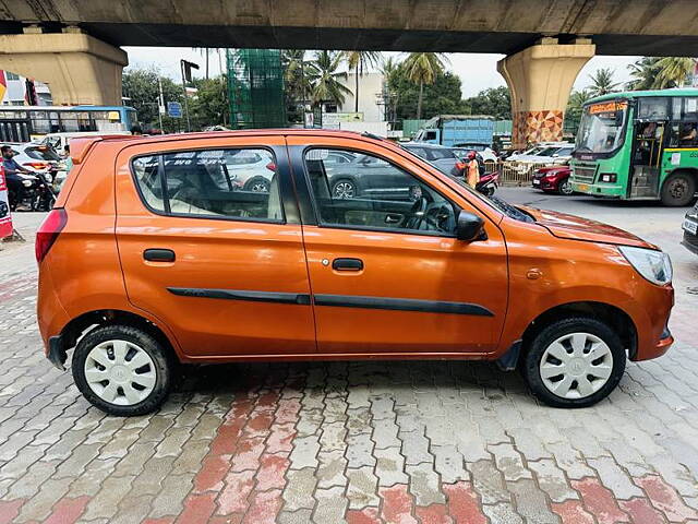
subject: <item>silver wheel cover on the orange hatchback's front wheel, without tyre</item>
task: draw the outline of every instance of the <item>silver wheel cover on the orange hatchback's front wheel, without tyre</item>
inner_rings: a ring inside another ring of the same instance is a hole
[[[591,333],[570,333],[553,342],[540,362],[545,388],[562,398],[586,398],[609,381],[613,354]]]

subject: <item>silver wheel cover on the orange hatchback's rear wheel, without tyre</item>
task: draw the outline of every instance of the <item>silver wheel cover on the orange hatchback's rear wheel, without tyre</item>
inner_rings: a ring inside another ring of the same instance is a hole
[[[117,406],[132,406],[151,395],[157,371],[151,356],[139,345],[107,341],[87,354],[85,380],[103,401]]]

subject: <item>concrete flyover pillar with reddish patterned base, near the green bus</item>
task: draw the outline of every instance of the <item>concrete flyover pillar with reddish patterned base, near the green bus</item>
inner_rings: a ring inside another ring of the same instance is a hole
[[[542,38],[538,44],[497,63],[512,94],[512,144],[559,141],[571,86],[581,68],[594,56],[588,38],[559,44]]]

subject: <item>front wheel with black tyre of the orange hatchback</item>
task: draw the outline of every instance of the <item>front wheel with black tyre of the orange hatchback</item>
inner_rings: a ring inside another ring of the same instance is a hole
[[[605,323],[558,320],[531,341],[521,362],[533,394],[554,407],[587,407],[605,398],[625,371],[618,335]]]

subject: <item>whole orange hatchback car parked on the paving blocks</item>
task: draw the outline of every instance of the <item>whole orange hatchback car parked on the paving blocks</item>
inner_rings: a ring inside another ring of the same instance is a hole
[[[388,141],[268,130],[71,143],[36,240],[47,357],[115,415],[180,364],[486,359],[552,406],[672,344],[655,246],[486,199]],[[248,187],[240,179],[257,180]]]

